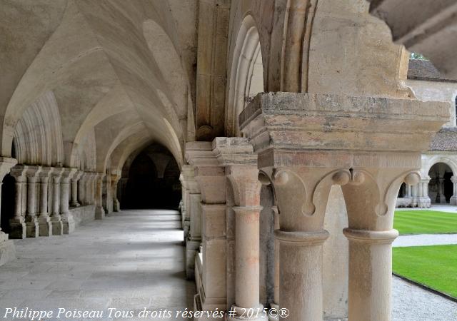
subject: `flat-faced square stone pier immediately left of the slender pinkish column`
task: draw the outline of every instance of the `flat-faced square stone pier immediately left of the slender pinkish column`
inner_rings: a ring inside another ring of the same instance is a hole
[[[201,191],[202,267],[196,309],[226,308],[226,176],[211,142],[186,144],[186,159],[194,166]],[[191,231],[192,235],[192,231]],[[196,277],[198,275],[196,274]]]

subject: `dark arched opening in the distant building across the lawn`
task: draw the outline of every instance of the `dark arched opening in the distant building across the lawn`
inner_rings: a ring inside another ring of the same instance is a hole
[[[431,203],[449,203],[453,195],[453,172],[446,163],[436,163],[428,171],[428,196]]]

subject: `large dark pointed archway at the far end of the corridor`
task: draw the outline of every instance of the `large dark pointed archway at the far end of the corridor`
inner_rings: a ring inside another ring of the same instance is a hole
[[[119,182],[121,208],[179,207],[181,183],[179,166],[171,153],[153,144],[126,162]]]

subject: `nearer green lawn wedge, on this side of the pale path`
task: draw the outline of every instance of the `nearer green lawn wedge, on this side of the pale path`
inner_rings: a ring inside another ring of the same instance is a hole
[[[457,245],[393,248],[393,272],[457,297]]]

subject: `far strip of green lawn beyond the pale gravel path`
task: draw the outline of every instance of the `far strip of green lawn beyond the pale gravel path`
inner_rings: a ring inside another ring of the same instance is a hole
[[[435,210],[396,210],[393,228],[400,234],[457,233],[457,213]]]

